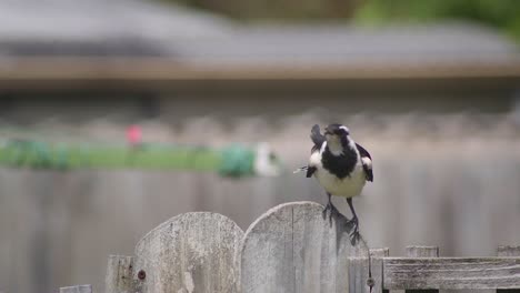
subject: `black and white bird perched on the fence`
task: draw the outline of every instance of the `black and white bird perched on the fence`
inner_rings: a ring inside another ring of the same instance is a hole
[[[309,164],[300,170],[307,171],[307,178],[314,176],[327,191],[329,201],[323,212],[338,210],[331,196],[342,196],[352,212],[349,224],[353,225],[353,238],[359,238],[358,215],[352,205],[352,198],[361,194],[367,181],[373,181],[372,158],[370,153],[350,138],[346,125],[330,124],[320,133],[320,127],[313,125],[310,138],[314,145]]]

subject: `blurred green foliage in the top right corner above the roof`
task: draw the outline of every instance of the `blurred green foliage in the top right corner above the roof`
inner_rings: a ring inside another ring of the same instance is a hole
[[[471,20],[520,40],[519,0],[367,0],[356,11],[361,23]]]

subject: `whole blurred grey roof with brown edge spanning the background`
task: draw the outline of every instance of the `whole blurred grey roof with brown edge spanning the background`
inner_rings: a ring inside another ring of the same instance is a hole
[[[239,26],[139,0],[0,0],[0,80],[520,77],[520,51],[471,23]]]

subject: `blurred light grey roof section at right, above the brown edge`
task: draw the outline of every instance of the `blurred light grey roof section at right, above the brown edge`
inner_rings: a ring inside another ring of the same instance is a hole
[[[368,29],[344,24],[269,26],[172,43],[184,59],[233,64],[504,62],[519,48],[496,31],[464,23]]]

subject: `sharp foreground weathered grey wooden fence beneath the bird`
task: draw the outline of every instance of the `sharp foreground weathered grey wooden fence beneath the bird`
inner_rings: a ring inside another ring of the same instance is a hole
[[[369,254],[364,240],[351,244],[344,218],[330,222],[322,210],[281,204],[246,233],[217,213],[174,216],[144,235],[134,256],[109,256],[106,292],[520,292],[520,246],[500,246],[498,257],[439,257],[434,246],[409,246],[407,257],[389,257],[388,249]]]

